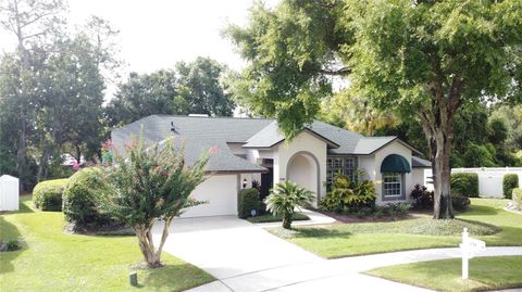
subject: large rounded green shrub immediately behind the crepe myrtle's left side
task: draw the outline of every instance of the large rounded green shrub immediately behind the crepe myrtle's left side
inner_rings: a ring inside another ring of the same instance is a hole
[[[100,195],[107,193],[100,168],[84,168],[74,174],[63,193],[63,214],[76,227],[102,226],[110,223],[109,216],[98,207]]]

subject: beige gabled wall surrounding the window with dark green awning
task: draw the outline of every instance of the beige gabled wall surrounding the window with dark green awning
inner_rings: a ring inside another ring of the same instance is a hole
[[[405,200],[396,200],[396,201],[383,201],[383,176],[381,174],[381,164],[383,163],[384,158],[388,156],[389,154],[398,154],[403,156],[408,163],[410,164],[411,167],[411,150],[401,144],[398,141],[393,141],[391,143],[385,145],[381,150],[378,150],[375,153],[375,163],[374,163],[374,168],[375,168],[375,177],[374,180],[378,181],[380,183],[376,186],[376,191],[377,191],[377,200],[375,201],[377,205],[383,205],[386,203],[390,202],[406,202],[409,201],[409,193],[411,189],[413,188],[413,181],[412,181],[412,174],[405,174],[405,179],[402,181],[403,187],[402,191],[405,192]]]

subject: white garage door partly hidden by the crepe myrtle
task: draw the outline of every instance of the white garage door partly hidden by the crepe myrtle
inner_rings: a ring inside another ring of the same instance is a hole
[[[182,217],[237,215],[237,175],[214,175],[190,194],[207,204],[188,208]]]

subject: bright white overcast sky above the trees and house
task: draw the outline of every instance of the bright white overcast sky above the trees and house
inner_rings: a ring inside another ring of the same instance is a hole
[[[274,5],[278,0],[265,2]],[[231,23],[245,25],[251,5],[252,0],[69,0],[67,18],[80,25],[97,15],[119,29],[124,73],[173,68],[200,55],[239,69],[245,62],[221,31]],[[0,50],[13,51],[14,41],[0,33]]]

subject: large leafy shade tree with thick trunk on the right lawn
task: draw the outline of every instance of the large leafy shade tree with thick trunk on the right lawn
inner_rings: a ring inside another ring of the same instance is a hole
[[[522,3],[283,1],[254,7],[228,35],[249,62],[233,92],[291,138],[330,94],[325,73],[349,74],[372,106],[417,118],[435,176],[434,218],[451,218],[450,153],[461,107],[520,100]],[[332,71],[332,65],[337,69]],[[414,110],[413,110],[414,109]]]

